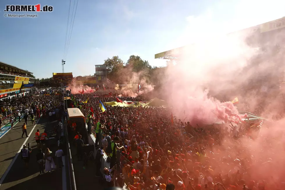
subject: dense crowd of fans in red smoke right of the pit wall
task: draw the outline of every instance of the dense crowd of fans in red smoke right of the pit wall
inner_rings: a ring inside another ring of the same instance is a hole
[[[259,168],[272,168],[278,164],[273,164],[268,156],[272,155],[271,144],[269,147],[261,145],[253,156],[249,144],[255,138],[269,139],[258,136],[260,127],[250,127],[252,122],[242,123],[239,127],[225,124],[192,126],[176,117],[172,120],[171,108],[164,107],[105,105],[106,111],[102,113],[99,100],[116,101],[116,96],[122,94],[120,90],[72,93],[75,105],[86,118],[93,109],[93,131],[97,122],[103,126],[98,148],[106,152],[108,144],[117,143],[120,158],[116,158],[119,166],[116,170],[123,174],[131,190],[174,189],[174,186],[181,190],[285,189],[284,172],[281,175],[276,171],[274,176],[257,172]],[[144,94],[119,98],[122,101],[149,99]],[[87,103],[82,103],[86,100]],[[245,143],[241,139],[248,141]],[[279,153],[283,154],[284,150]]]

